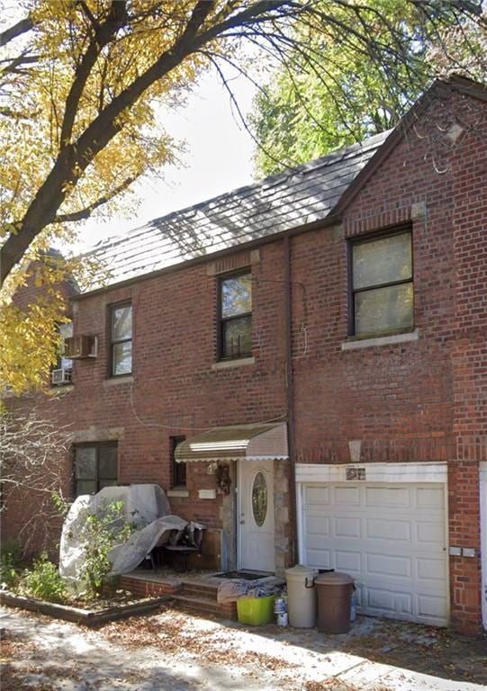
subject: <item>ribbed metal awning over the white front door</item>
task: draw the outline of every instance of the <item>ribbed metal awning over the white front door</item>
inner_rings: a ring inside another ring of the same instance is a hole
[[[175,456],[177,462],[285,459],[287,426],[284,422],[213,427],[177,444]]]

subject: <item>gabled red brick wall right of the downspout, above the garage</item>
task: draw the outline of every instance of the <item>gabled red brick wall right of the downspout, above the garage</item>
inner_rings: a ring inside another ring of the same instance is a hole
[[[463,134],[446,137],[460,122]],[[452,623],[481,617],[478,462],[487,458],[487,106],[430,104],[347,209],[340,229],[293,239],[293,349],[300,462],[446,461]],[[341,351],[347,238],[412,223],[419,340]],[[306,332],[307,341],[304,339]]]

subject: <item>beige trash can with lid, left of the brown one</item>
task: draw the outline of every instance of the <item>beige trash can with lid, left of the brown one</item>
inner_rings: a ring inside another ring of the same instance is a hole
[[[299,629],[312,629],[316,624],[316,569],[298,564],[285,571],[289,624]]]

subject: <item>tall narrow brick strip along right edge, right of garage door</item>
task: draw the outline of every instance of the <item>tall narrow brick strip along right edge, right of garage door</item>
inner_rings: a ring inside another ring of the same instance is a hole
[[[450,468],[450,541],[480,552],[479,462],[487,461],[487,108],[462,104],[469,147],[452,159],[455,342],[452,352],[455,462]],[[484,517],[485,520],[485,517]],[[481,560],[452,558],[453,624],[481,619]]]

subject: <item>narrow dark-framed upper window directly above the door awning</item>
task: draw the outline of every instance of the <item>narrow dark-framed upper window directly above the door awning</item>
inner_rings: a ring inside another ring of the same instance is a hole
[[[221,359],[252,354],[252,277],[248,270],[220,279]]]

